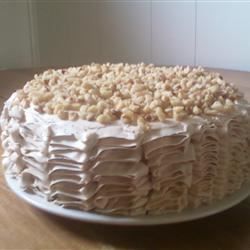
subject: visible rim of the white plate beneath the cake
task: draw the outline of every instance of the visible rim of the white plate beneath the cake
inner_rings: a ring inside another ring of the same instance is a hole
[[[239,191],[224,198],[223,200],[215,202],[212,205],[197,208],[195,210],[187,209],[181,213],[169,213],[166,215],[128,217],[101,215],[93,212],[84,212],[74,209],[62,208],[58,205],[46,201],[39,196],[23,191],[19,187],[18,181],[6,173],[5,179],[8,186],[17,196],[22,198],[30,205],[45,212],[79,221],[111,225],[160,225],[191,221],[199,218],[204,218],[231,208],[240,203],[242,200],[246,199],[250,193],[250,184],[245,184]]]

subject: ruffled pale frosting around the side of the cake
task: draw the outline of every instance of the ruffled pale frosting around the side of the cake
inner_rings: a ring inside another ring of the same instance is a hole
[[[231,117],[153,123],[64,121],[6,102],[3,165],[26,190],[64,207],[158,214],[221,199],[249,179],[246,104]]]

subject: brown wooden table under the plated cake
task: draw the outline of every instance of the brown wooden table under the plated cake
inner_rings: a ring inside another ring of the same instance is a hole
[[[0,100],[39,70],[0,71]],[[250,73],[217,70],[250,100]],[[0,250],[249,250],[250,198],[226,212],[176,225],[96,225],[46,214],[17,198],[0,171]]]

